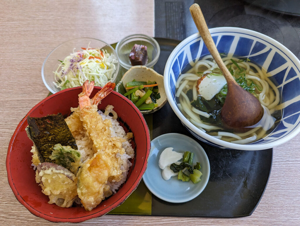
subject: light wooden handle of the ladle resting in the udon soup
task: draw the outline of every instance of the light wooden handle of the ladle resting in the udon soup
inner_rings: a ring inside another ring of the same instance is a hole
[[[196,27],[203,39],[208,51],[210,52],[211,56],[216,61],[220,70],[223,72],[223,75],[224,75],[227,83],[229,81],[235,83],[234,78],[232,77],[232,75],[230,74],[230,72],[228,71],[228,69],[226,68],[226,66],[224,65],[224,63],[220,57],[217,47],[214,44],[214,40],[211,38],[210,32],[208,31],[208,27],[205,23],[205,19],[203,17],[202,11],[197,3],[191,5],[190,14],[193,17]]]

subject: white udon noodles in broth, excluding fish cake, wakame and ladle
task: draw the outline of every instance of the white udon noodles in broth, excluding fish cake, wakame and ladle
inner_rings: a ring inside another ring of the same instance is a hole
[[[244,76],[244,78],[241,79],[244,79],[243,81],[248,84],[247,86],[250,92],[256,96],[264,108],[264,116],[262,120],[252,128],[244,129],[241,132],[241,130],[237,131],[229,128],[228,126],[226,127],[226,125],[220,122],[220,120],[213,123],[207,122],[206,119],[219,117],[218,114],[220,111],[212,114],[209,109],[207,111],[203,111],[201,109],[197,109],[191,104],[191,102],[202,96],[198,93],[196,88],[199,84],[198,80],[201,77],[204,78],[205,75],[208,78],[210,75],[223,77],[211,55],[204,56],[201,60],[194,64],[193,68],[179,76],[176,83],[176,100],[179,109],[197,128],[221,140],[244,144],[266,137],[270,131],[274,129],[276,119],[281,117],[281,115],[279,115],[281,112],[275,110],[275,107],[280,100],[277,87],[268,78],[270,75],[264,68],[260,68],[248,59],[223,57],[222,60],[235,79],[240,76]],[[227,85],[225,84],[225,87],[223,87],[220,91],[221,94],[224,90],[227,92],[226,87]],[[222,102],[222,99],[220,99],[220,96],[222,95],[220,93],[217,93],[217,95],[212,98],[216,101],[216,103]],[[220,106],[222,105],[223,103],[220,103]]]

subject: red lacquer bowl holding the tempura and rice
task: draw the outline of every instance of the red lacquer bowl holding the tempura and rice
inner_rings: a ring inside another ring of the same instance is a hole
[[[91,97],[101,87],[95,87]],[[116,194],[103,200],[96,208],[85,211],[81,206],[61,208],[55,204],[49,204],[48,196],[44,195],[41,187],[35,182],[35,170],[31,166],[30,152],[32,141],[27,137],[25,128],[27,116],[41,117],[47,114],[62,113],[68,116],[70,107],[78,106],[78,94],[81,87],[71,88],[57,92],[33,107],[17,126],[10,140],[6,169],[7,178],[17,200],[22,203],[34,215],[53,222],[81,222],[99,217],[116,208],[137,188],[147,167],[150,152],[149,128],[142,113],[135,105],[123,95],[112,92],[104,98],[98,108],[104,110],[107,104],[114,106],[118,113],[118,120],[126,132],[134,134],[132,147],[135,150],[135,158],[132,160],[126,182],[119,188]]]

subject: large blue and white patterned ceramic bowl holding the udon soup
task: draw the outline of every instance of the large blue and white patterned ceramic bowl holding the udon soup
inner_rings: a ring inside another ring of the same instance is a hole
[[[199,140],[219,148],[262,150],[280,145],[300,131],[300,61],[274,39],[248,29],[220,27],[209,29],[219,53],[249,58],[265,68],[280,92],[278,109],[282,120],[269,136],[249,144],[234,144],[212,137],[199,130],[180,112],[175,101],[175,84],[186,71],[189,62],[195,62],[209,54],[199,33],[184,39],[170,54],[164,71],[164,87],[167,99],[182,124]]]

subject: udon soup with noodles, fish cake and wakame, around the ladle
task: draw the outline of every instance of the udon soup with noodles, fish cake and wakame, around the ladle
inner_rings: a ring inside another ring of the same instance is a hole
[[[264,116],[250,128],[232,128],[220,119],[227,94],[227,84],[211,55],[204,56],[176,83],[179,110],[193,125],[221,140],[245,144],[266,137],[281,118],[275,109],[280,100],[277,87],[269,74],[249,59],[223,57],[224,64],[237,83],[252,93],[262,104]]]

